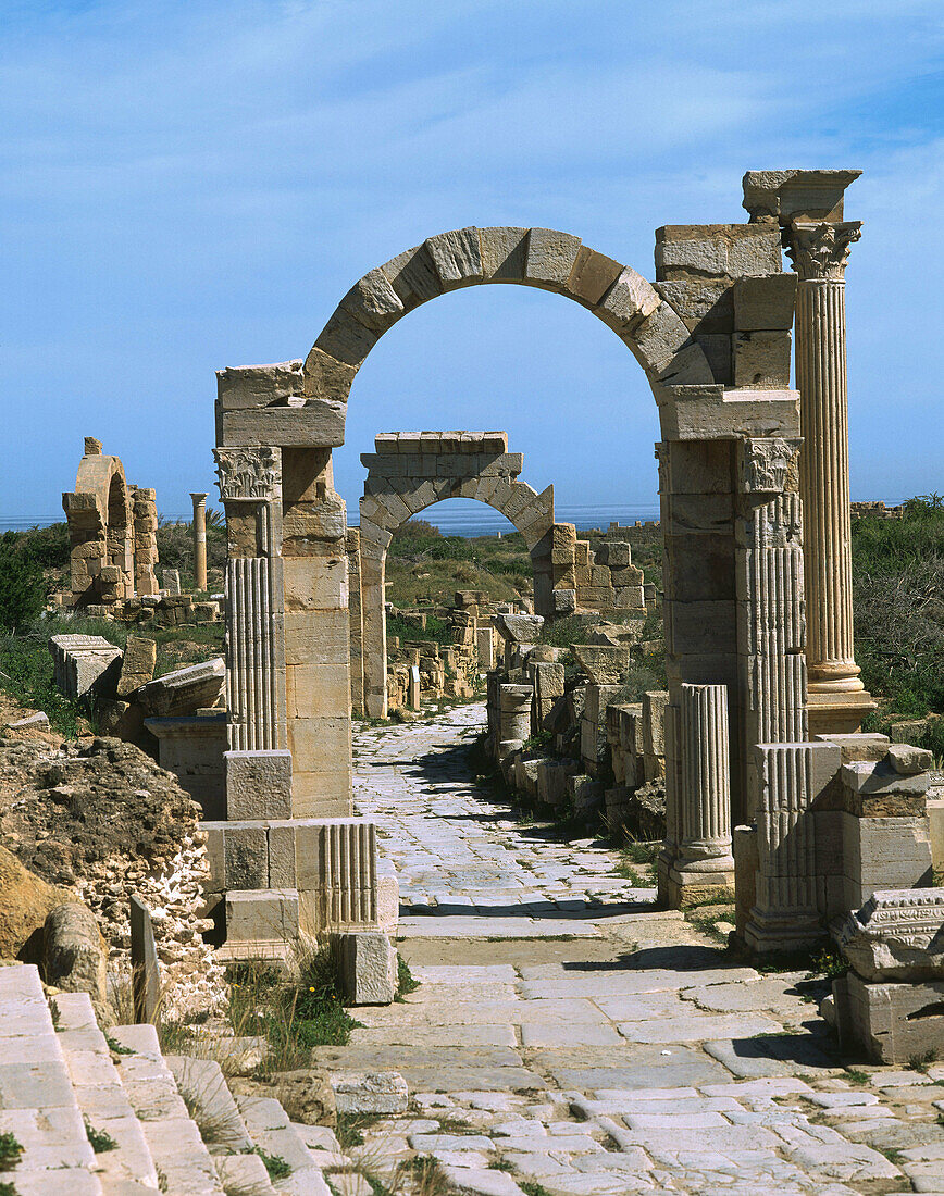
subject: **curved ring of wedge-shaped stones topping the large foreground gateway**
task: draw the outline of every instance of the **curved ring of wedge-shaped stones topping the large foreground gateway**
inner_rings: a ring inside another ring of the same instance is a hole
[[[428,237],[354,283],[305,360],[306,398],[347,402],[367,354],[398,319],[437,295],[486,282],[579,303],[631,349],[651,384],[714,383],[678,313],[632,267],[554,228],[470,227]]]

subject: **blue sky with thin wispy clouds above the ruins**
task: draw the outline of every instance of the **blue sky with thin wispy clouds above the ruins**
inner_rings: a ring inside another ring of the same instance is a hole
[[[944,490],[940,0],[0,0],[0,518],[54,517],[84,435],[158,507],[213,493],[214,370],[304,356],[432,233],[544,225],[652,277],[653,230],[741,221],[748,169],[855,166],[853,498]],[[656,501],[654,403],[556,295],[410,313],[335,453],[506,428],[559,505]],[[212,500],[211,500],[212,501]]]

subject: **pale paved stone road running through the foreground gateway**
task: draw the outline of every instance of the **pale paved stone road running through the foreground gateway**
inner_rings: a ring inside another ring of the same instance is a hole
[[[493,1196],[944,1192],[944,1067],[842,1068],[822,986],[733,964],[617,853],[476,787],[482,720],[357,736],[421,981],[318,1052],[408,1081],[415,1112],[372,1125],[363,1160],[433,1155],[455,1191]]]

